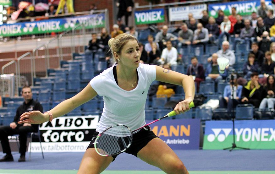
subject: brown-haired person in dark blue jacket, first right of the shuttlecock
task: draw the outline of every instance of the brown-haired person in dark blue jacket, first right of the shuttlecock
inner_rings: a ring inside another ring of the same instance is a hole
[[[254,54],[250,53],[248,55],[248,60],[244,64],[243,72],[244,72],[244,75],[245,75],[245,79],[249,79],[253,72],[256,72],[256,73],[259,72],[259,65],[258,65],[257,62],[255,62],[255,55]]]

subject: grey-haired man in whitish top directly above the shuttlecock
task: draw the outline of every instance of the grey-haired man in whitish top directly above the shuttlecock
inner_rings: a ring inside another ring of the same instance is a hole
[[[218,57],[225,57],[229,59],[229,66],[233,66],[236,61],[235,54],[232,50],[229,49],[229,42],[228,41],[223,41],[222,44],[222,49],[217,51]]]

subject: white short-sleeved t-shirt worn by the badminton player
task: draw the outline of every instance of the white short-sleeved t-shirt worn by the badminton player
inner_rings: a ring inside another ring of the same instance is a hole
[[[115,81],[113,68],[110,67],[91,79],[91,87],[103,96],[104,108],[97,132],[116,124],[124,124],[131,130],[145,125],[145,102],[151,83],[156,79],[155,65],[140,63],[137,68],[138,84],[135,89],[121,89]]]

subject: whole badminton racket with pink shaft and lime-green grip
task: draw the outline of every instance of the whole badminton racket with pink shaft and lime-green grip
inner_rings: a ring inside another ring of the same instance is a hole
[[[189,104],[189,107],[194,107],[193,101]],[[118,124],[107,128],[105,131],[100,133],[95,139],[95,149],[99,155],[102,156],[113,156],[118,155],[127,150],[132,144],[133,132],[144,128],[154,122],[157,122],[163,118],[171,117],[176,115],[175,111],[171,111],[166,116],[159,118],[153,122],[150,122],[134,131],[131,131],[125,125]]]

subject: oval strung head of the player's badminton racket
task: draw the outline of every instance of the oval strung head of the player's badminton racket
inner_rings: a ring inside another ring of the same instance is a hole
[[[96,141],[96,150],[101,155],[112,156],[126,150],[132,142],[129,128],[121,125],[113,126],[104,131]]]

